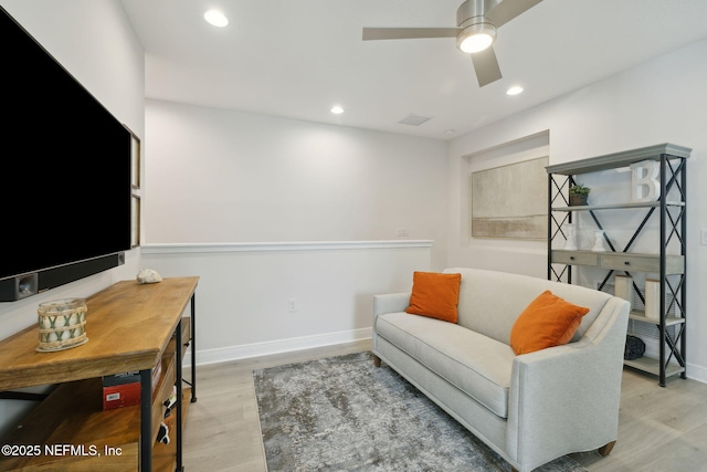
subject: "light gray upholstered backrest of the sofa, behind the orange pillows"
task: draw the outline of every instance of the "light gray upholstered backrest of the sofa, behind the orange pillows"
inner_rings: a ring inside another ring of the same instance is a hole
[[[444,272],[462,274],[457,324],[504,344],[510,344],[510,329],[518,315],[546,290],[589,308],[573,342],[584,335],[611,298],[610,294],[597,290],[527,275],[467,268],[452,268]]]

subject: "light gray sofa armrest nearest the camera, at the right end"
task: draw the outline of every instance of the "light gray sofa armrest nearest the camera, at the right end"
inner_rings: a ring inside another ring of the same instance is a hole
[[[521,471],[616,440],[627,323],[612,297],[579,342],[514,359],[506,440]]]

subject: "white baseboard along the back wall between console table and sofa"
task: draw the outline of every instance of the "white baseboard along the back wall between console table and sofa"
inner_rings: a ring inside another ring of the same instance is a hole
[[[199,346],[197,346],[197,366],[228,363],[230,360],[268,356],[272,354],[291,353],[294,350],[312,349],[315,347],[331,346],[335,344],[352,343],[356,340],[370,339],[370,337],[371,328],[361,328],[314,336],[268,340],[265,343],[254,343],[241,346],[221,347],[217,349],[199,350]],[[183,365],[191,365],[191,350],[187,352]]]

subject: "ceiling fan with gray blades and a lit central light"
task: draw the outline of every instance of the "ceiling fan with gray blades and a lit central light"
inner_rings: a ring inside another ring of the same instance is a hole
[[[456,46],[472,54],[478,86],[502,77],[493,42],[496,29],[542,0],[466,0],[456,10],[457,28],[363,28],[363,40],[456,38]]]

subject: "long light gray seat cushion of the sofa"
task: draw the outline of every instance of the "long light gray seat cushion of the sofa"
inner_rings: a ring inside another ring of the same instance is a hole
[[[495,415],[508,417],[515,358],[510,346],[456,324],[403,312],[378,316],[374,329]]]

